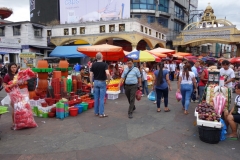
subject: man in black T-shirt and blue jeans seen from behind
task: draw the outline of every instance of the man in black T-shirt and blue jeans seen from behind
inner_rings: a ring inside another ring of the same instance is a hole
[[[103,62],[102,53],[96,54],[97,62],[92,64],[90,70],[90,83],[94,88],[94,112],[100,118],[108,117],[104,112],[104,98],[106,95],[106,79],[107,84],[110,82],[110,74],[107,63]],[[93,85],[94,79],[94,85]]]

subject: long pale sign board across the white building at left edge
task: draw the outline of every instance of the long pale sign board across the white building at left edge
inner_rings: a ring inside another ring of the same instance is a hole
[[[21,48],[21,40],[1,37],[0,47]]]

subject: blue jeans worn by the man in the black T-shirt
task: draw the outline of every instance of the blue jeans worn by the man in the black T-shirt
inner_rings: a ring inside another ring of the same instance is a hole
[[[106,82],[94,80],[94,112],[104,114],[104,98],[106,94]]]

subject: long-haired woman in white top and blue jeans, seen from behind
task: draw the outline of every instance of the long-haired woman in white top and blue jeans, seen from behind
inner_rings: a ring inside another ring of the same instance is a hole
[[[178,80],[178,90],[182,94],[182,106],[184,114],[188,114],[188,107],[191,99],[191,94],[194,91],[197,91],[197,84],[195,79],[195,74],[191,71],[191,65],[189,63],[185,64],[183,67],[183,72],[179,75]]]

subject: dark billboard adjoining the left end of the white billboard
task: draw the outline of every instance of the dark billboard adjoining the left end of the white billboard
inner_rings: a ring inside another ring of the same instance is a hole
[[[30,0],[30,21],[47,24],[59,18],[58,0]]]

